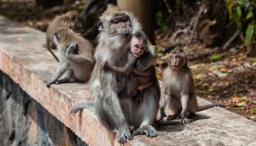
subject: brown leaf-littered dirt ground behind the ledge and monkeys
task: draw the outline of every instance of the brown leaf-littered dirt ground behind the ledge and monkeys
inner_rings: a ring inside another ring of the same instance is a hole
[[[0,15],[46,31],[48,23],[55,15],[70,9],[81,11],[83,6],[84,1],[75,5],[43,9],[31,1],[0,1]],[[83,31],[80,23],[77,31]],[[157,44],[159,53],[156,65],[159,79],[163,69],[167,67],[167,53],[161,53],[160,45],[161,43]],[[184,50],[193,72],[197,96],[212,102],[222,102],[227,110],[256,121],[256,58],[250,57],[244,46],[221,50],[219,47],[205,48],[195,43],[184,47]]]

